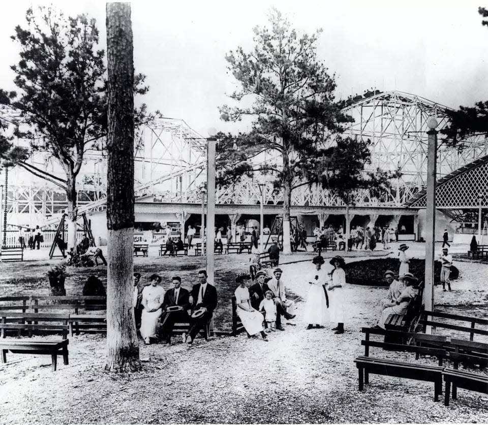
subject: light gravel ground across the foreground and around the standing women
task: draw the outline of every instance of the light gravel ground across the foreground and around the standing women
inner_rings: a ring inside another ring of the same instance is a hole
[[[457,265],[461,278],[452,292],[436,288],[436,302],[481,303],[488,265]],[[282,267],[290,290],[306,296],[302,276],[311,267]],[[351,285],[347,291],[351,310],[343,335],[307,331],[301,319],[304,304],[298,303],[295,325],[285,325],[286,331],[271,334],[267,343],[240,335],[197,339],[191,348],[142,345],[141,357],[149,361],[135,374],[102,373],[102,336],[71,338],[70,365],[60,364],[55,373],[47,356],[9,353],[11,362],[0,367],[0,422],[488,422],[488,396],[463,389],[445,407],[434,403],[430,383],[372,375],[359,393],[353,363],[363,353],[359,329],[375,324],[377,302],[386,290]],[[378,349],[372,355],[414,359]]]

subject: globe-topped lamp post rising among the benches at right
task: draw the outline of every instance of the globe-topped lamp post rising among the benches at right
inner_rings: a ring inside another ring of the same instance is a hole
[[[436,241],[436,178],[437,178],[437,120],[431,117],[427,121],[429,144],[427,151],[427,195],[425,208],[425,297],[426,311],[434,310],[434,251]],[[428,318],[429,320],[429,318]],[[425,333],[432,334],[433,329],[427,326]]]

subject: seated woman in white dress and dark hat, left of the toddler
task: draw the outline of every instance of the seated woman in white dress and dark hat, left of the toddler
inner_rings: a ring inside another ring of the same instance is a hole
[[[249,289],[246,287],[246,283],[249,283],[250,280],[251,276],[248,273],[239,273],[235,278],[235,281],[239,283],[234,292],[237,304],[236,313],[249,337],[260,333],[263,340],[267,341],[263,327],[263,315],[251,306]]]

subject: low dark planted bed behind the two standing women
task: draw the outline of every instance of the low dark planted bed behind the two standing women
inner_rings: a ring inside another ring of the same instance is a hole
[[[375,258],[363,261],[354,261],[347,265],[346,280],[348,283],[354,285],[372,285],[372,286],[387,286],[384,273],[391,270],[398,278],[398,269],[400,263],[396,258]],[[441,262],[434,263],[434,283],[441,282]],[[409,271],[419,281],[424,280],[425,275],[425,261],[423,259],[410,259]],[[459,277],[459,270],[451,266],[450,279],[454,280]]]

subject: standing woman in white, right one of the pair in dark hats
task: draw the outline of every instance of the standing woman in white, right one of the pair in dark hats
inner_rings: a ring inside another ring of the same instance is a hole
[[[346,272],[344,269],[346,263],[340,255],[337,255],[330,260],[330,264],[334,266],[334,270],[331,272],[331,280],[327,286],[330,321],[338,323],[332,329],[335,334],[344,334],[344,322],[346,321],[346,292],[344,290]]]

